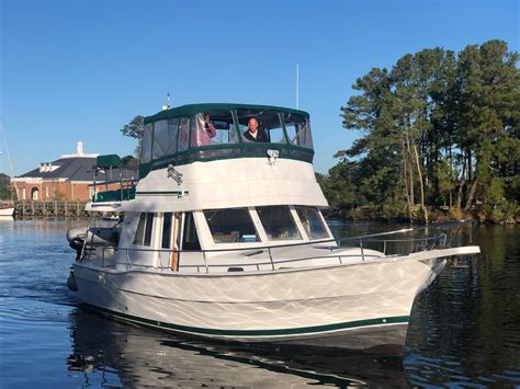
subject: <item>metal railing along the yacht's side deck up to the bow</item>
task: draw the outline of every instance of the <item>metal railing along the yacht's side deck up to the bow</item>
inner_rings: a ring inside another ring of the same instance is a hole
[[[197,273],[205,272],[210,273],[211,268],[227,268],[228,272],[234,271],[244,271],[244,267],[249,268],[257,268],[260,270],[275,270],[281,268],[283,265],[290,265],[297,262],[303,261],[330,261],[331,264],[343,264],[344,261],[353,258],[361,258],[361,261],[366,261],[371,259],[381,258],[381,254],[384,255],[404,255],[414,252],[420,251],[429,251],[434,249],[445,249],[451,247],[453,239],[460,234],[462,228],[464,226],[468,226],[474,224],[475,220],[461,220],[454,222],[444,222],[441,225],[436,226],[427,226],[427,227],[419,227],[419,228],[406,228],[389,232],[381,232],[381,233],[370,233],[364,236],[358,237],[349,237],[346,239],[340,240],[340,242],[348,242],[350,244],[340,244],[340,245],[325,245],[324,243],[331,242],[332,240],[325,240],[318,242],[302,242],[302,243],[293,243],[293,244],[280,244],[280,245],[262,245],[262,247],[255,247],[255,248],[239,248],[239,249],[208,249],[208,250],[172,250],[172,249],[148,249],[148,248],[116,248],[114,244],[98,244],[92,245],[89,248],[84,248],[84,256],[86,259],[91,258],[92,253],[95,253],[95,258],[99,259],[103,266],[106,266],[106,252],[110,250],[112,252],[124,252],[126,265],[128,268],[146,268],[146,267],[154,267],[152,265],[140,265],[136,263],[132,263],[131,253],[132,252],[152,252],[159,254],[159,268],[161,270],[170,270],[169,259],[172,253],[178,255],[178,263],[179,268],[194,268]],[[453,231],[453,227],[455,231]],[[425,233],[421,237],[404,237],[404,238],[395,238],[399,234],[409,234],[412,233]],[[470,237],[470,241],[472,237]],[[319,244],[318,244],[319,243]],[[358,244],[355,244],[358,243]],[[382,251],[372,251],[373,245],[382,247]],[[298,258],[291,258],[287,259],[284,255],[280,255],[276,251],[281,249],[287,249],[290,247],[303,247],[308,245],[314,249],[321,249],[329,251],[327,254],[324,255],[303,255]],[[400,252],[394,253],[389,251],[392,250],[392,245],[399,245]],[[349,253],[346,252],[347,249],[360,249],[359,252]],[[404,250],[403,250],[404,249]],[[101,251],[101,255],[98,255],[98,252]],[[226,252],[233,253],[238,252],[245,259],[248,259],[247,262],[240,263],[208,263],[207,254],[217,253],[217,252]],[[190,263],[182,263],[181,259],[188,253],[199,253],[202,255],[203,263],[199,264],[190,264]],[[256,255],[264,254],[262,260],[260,261],[251,261]],[[163,264],[163,259],[168,259],[168,265]],[[121,258],[121,256],[120,256]]]

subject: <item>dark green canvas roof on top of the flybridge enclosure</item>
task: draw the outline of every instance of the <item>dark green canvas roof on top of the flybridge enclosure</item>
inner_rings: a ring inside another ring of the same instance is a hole
[[[257,105],[257,104],[238,104],[238,103],[201,103],[201,104],[188,104],[177,106],[174,108],[160,111],[155,115],[146,116],[145,123],[157,122],[171,117],[188,116],[194,115],[200,112],[210,111],[210,110],[237,110],[237,108],[252,108],[252,110],[275,110],[283,112],[292,112],[308,116],[308,113],[305,111],[286,108],[275,105]]]

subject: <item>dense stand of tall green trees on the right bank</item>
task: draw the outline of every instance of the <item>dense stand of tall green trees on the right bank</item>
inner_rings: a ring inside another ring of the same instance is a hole
[[[359,78],[340,116],[361,137],[318,176],[332,209],[425,222],[518,220],[518,60],[506,42],[489,41],[457,54],[407,54]]]

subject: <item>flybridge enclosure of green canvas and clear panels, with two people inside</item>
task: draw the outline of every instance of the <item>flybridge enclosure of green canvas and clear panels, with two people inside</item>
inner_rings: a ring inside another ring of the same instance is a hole
[[[183,105],[145,118],[139,175],[169,164],[273,156],[313,161],[308,113],[270,105]]]

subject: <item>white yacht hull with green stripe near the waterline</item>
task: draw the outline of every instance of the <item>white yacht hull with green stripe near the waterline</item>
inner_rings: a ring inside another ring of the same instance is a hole
[[[258,273],[180,274],[75,264],[78,297],[125,320],[239,342],[402,347],[416,295],[443,259]]]

